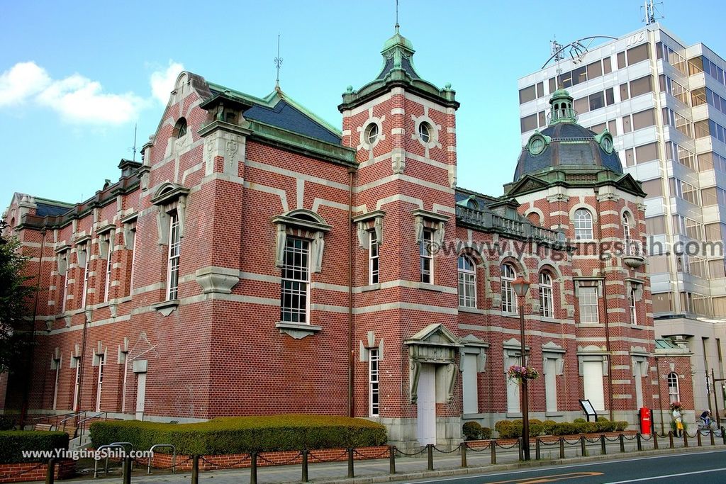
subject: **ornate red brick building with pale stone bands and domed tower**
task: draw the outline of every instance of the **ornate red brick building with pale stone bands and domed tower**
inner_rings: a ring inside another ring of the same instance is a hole
[[[119,181],[76,205],[16,194],[5,218],[41,274],[39,345],[28,398],[22,374],[1,376],[0,409],[351,414],[397,445],[454,443],[464,420],[520,417],[517,276],[542,372],[531,417],[580,417],[580,398],[633,423],[667,408],[644,193],[610,134],[558,91],[502,197],[460,188],[459,103],[397,30],[378,77],[343,94],[342,131],[280,89],[184,72]]]

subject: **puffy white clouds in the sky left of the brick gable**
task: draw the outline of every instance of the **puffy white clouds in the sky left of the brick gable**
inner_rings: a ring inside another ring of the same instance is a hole
[[[134,92],[104,92],[101,83],[78,73],[53,79],[35,62],[18,62],[0,74],[0,108],[33,102],[58,112],[70,123],[118,125],[138,118],[153,99],[166,104],[182,70],[181,63],[170,60],[167,67],[151,73],[151,93],[141,97]]]

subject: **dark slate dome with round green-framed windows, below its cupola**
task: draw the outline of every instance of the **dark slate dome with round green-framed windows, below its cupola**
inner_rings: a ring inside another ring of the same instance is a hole
[[[556,123],[542,130],[542,135],[550,136],[552,141],[539,155],[532,155],[523,147],[514,173],[514,181],[527,173],[535,173],[553,167],[582,168],[602,166],[622,174],[623,166],[618,153],[605,152],[595,140],[595,132],[576,123]]]

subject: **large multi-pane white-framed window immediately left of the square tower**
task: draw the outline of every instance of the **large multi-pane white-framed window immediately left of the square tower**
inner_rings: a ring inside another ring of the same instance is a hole
[[[287,237],[280,284],[280,321],[309,324],[310,243]]]

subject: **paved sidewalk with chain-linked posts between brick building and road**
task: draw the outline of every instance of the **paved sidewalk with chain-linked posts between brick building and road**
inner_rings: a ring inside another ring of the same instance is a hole
[[[571,441],[572,442],[572,441]],[[703,451],[709,448],[724,449],[722,440],[716,440],[716,445],[711,446],[709,438],[703,439],[703,446],[696,446],[696,439],[689,440],[688,449],[684,448],[683,441],[674,441],[674,448],[669,448],[668,439],[658,439],[659,450],[653,449],[653,440],[643,440],[643,451],[637,451],[637,443],[635,440],[626,440],[626,452],[620,452],[619,442],[607,442],[607,454],[601,454],[601,444],[588,442],[586,445],[586,454],[581,456],[581,446],[566,445],[566,459],[560,459],[559,445],[542,446],[542,460],[535,459],[534,443],[531,446],[531,462],[519,462],[518,449],[502,450],[497,448],[497,464],[491,464],[491,453],[489,448],[484,451],[475,452],[469,449],[466,453],[468,467],[461,467],[461,455],[440,454],[434,452],[433,455],[433,471],[428,471],[428,460],[426,454],[422,457],[396,457],[396,474],[389,474],[388,459],[362,460],[354,463],[354,479],[347,479],[348,464],[347,462],[325,462],[314,463],[309,465],[308,477],[310,482],[316,483],[382,483],[393,480],[412,480],[424,477],[441,477],[452,475],[466,475],[478,472],[489,472],[502,469],[515,469],[520,467],[537,467],[551,464],[574,464],[577,462],[588,462],[597,460],[619,459],[623,456],[648,456],[653,454],[673,454],[688,451]],[[680,445],[679,445],[680,444]],[[80,470],[80,469],[79,469]],[[91,469],[92,472],[92,469]],[[152,469],[152,474],[147,475],[146,467],[135,469],[131,476],[131,483],[168,483],[168,484],[188,484],[191,482],[191,472],[179,472],[170,474],[166,471]],[[300,483],[302,468],[300,464],[274,466],[274,467],[258,467],[257,482],[258,484],[272,483]],[[71,482],[73,484],[92,484],[92,483],[121,483],[121,473],[118,467],[105,477],[102,473],[99,479],[93,479],[91,475],[83,475],[73,480],[65,480],[58,482]],[[248,484],[250,483],[250,469],[220,469],[214,471],[200,472],[200,483],[214,484]]]

